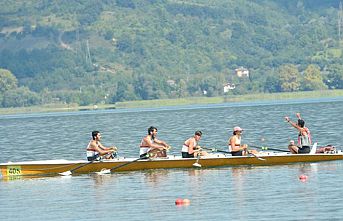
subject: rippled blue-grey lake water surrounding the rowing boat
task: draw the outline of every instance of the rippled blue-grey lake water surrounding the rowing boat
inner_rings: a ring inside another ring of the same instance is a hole
[[[250,145],[287,148],[284,116],[300,112],[319,145],[343,147],[343,98],[0,116],[0,162],[84,159],[92,130],[120,156],[138,157],[149,126],[179,155],[202,130],[202,145],[226,148],[232,128]],[[342,220],[343,162],[0,180],[1,220]],[[299,175],[308,176],[306,182]],[[177,207],[176,198],[189,206]]]

